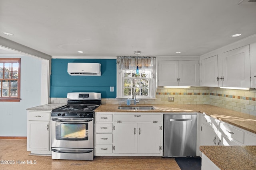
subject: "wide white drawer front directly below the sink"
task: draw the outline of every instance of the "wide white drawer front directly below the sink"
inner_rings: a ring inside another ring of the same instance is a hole
[[[115,114],[114,122],[161,122],[161,115],[147,115],[141,113]]]

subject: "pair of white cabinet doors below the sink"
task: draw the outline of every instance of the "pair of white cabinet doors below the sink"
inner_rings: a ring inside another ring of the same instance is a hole
[[[114,123],[114,153],[160,154],[161,123]]]

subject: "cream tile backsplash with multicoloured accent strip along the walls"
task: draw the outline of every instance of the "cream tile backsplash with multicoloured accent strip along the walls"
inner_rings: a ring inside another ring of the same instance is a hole
[[[168,98],[174,97],[174,102]],[[163,88],[158,87],[156,98],[140,99],[139,104],[210,104],[250,115],[256,115],[256,90],[232,90],[217,87]],[[102,104],[126,104],[127,99],[102,98]],[[66,98],[51,98],[51,103],[67,102]],[[134,102],[132,101],[131,104]]]

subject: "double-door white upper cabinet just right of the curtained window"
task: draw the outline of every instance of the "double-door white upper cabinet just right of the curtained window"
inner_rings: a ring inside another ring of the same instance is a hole
[[[198,86],[198,61],[158,61],[158,86]]]

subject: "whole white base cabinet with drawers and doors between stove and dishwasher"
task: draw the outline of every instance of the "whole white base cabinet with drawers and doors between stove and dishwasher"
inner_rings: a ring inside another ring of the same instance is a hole
[[[162,156],[162,113],[96,112],[96,156]]]

